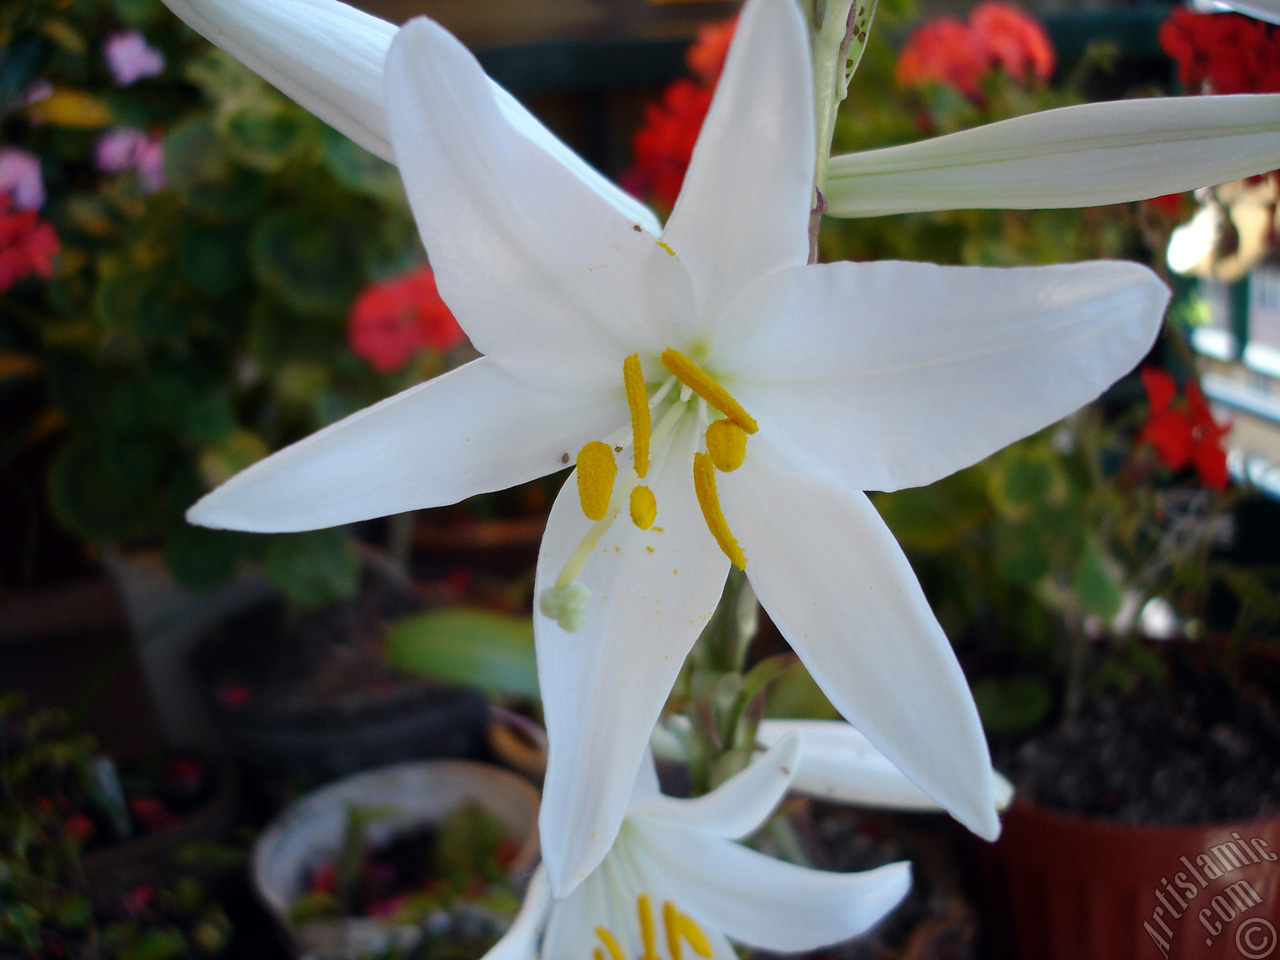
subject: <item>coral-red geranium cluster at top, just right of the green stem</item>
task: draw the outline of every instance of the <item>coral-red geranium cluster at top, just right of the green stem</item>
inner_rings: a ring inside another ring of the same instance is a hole
[[[1020,83],[1044,83],[1056,55],[1043,24],[1014,4],[987,0],[965,23],[938,17],[918,27],[893,72],[899,83],[916,87],[942,83],[972,100],[982,99],[982,82],[1002,69]]]

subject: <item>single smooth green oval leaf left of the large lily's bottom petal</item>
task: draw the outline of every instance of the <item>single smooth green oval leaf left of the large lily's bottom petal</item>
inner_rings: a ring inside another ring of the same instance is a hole
[[[463,607],[419,613],[387,631],[387,658],[436,680],[538,699],[529,617]]]

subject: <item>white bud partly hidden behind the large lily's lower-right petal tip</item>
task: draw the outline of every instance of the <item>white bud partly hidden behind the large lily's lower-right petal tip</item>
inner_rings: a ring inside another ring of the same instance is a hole
[[[937,800],[913,783],[890,759],[849,723],[840,721],[767,719],[756,739],[767,748],[783,737],[800,739],[800,760],[791,790],[818,800],[892,810],[937,810]],[[991,772],[996,809],[1014,796],[1014,786]]]

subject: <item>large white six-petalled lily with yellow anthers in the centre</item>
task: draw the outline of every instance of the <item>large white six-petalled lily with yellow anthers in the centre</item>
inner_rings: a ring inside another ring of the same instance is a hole
[[[609,850],[731,561],[837,709],[993,837],[973,699],[863,490],[932,483],[1059,420],[1160,328],[1167,291],[1134,264],[808,265],[810,84],[795,4],[749,0],[657,237],[512,125],[444,29],[407,24],[387,59],[390,137],[440,293],[485,356],[188,515],[333,526],[577,456],[536,576],[541,836],[561,896]]]

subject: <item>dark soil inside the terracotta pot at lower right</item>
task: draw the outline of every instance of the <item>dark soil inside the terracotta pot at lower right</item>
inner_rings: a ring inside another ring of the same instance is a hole
[[[1021,796],[1089,817],[1187,824],[1280,813],[1274,692],[1228,682],[1202,653],[1171,645],[1166,682],[1105,692],[1070,723],[995,744],[996,767]]]

